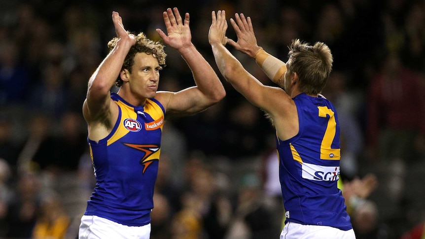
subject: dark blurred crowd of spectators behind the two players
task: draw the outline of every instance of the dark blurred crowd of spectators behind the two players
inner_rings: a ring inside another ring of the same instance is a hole
[[[88,79],[115,36],[111,12],[126,29],[160,40],[155,29],[165,30],[162,12],[174,6],[190,13],[192,41],[213,68],[212,10],[250,16],[259,45],[283,61],[292,38],[325,42],[334,66],[323,95],[338,110],[341,180],[343,193],[355,195],[346,200],[357,238],[425,235],[424,0],[0,4],[0,238],[76,238],[95,186],[81,109]],[[230,25],[227,34],[235,39]],[[192,85],[184,60],[165,50],[160,90]],[[255,61],[234,53],[273,84]],[[282,230],[274,129],[223,84],[222,102],[165,124],[152,239],[277,238]],[[376,188],[353,193],[371,175]]]

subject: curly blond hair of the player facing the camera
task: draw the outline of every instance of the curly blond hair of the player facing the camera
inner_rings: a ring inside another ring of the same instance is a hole
[[[130,32],[127,33],[131,34]],[[154,56],[158,60],[159,66],[161,66],[161,68],[164,68],[165,58],[167,56],[164,51],[164,45],[160,42],[155,42],[153,40],[148,39],[144,33],[139,33],[137,35],[135,34],[135,38],[136,44],[134,44],[130,48],[127,56],[125,57],[122,69],[127,69],[131,72],[131,67],[134,65],[134,57],[137,53],[141,52]],[[107,46],[109,48],[109,51],[111,51],[115,47],[118,40],[119,38],[115,36],[108,42]],[[115,82],[115,86],[121,87],[122,83],[122,79],[118,77]]]

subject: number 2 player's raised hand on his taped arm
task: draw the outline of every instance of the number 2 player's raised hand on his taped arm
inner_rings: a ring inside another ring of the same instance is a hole
[[[250,57],[254,57],[260,47],[257,45],[257,38],[255,38],[251,18],[245,18],[243,13],[236,13],[235,19],[236,22],[231,18],[230,23],[238,37],[238,42],[228,39],[228,43],[237,50],[248,54]]]

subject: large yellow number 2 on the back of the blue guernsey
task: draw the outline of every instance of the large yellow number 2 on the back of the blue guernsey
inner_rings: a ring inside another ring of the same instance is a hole
[[[335,113],[332,111],[332,109],[328,108],[327,106],[318,106],[318,108],[319,108],[319,117],[326,118],[326,115],[329,115],[329,119],[326,126],[326,132],[324,133],[324,136],[320,145],[320,159],[340,160],[341,149],[331,148],[332,142],[335,139],[335,134],[336,134]]]

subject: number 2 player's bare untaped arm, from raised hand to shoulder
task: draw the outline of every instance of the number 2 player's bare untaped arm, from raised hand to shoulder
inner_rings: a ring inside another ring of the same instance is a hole
[[[279,87],[263,85],[226,49],[227,22],[224,11],[218,11],[217,16],[213,11],[212,19],[208,38],[221,74],[249,102],[268,113],[281,139],[295,136],[298,133],[298,117],[291,97]]]

